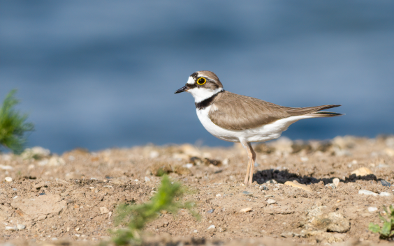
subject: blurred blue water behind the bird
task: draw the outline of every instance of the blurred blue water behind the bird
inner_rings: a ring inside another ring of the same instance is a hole
[[[0,100],[55,153],[153,144],[229,146],[208,133],[191,73],[289,107],[346,116],[291,125],[291,139],[394,133],[394,1],[0,1]]]

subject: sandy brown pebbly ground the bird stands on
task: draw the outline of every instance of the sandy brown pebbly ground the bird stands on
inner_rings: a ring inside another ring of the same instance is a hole
[[[200,220],[187,210],[163,211],[147,224],[145,245],[389,243],[367,226],[381,223],[377,213],[394,203],[394,186],[388,186],[394,185],[394,137],[282,138],[254,148],[249,186],[243,185],[247,153],[239,144],[75,149],[61,156],[3,153],[0,242],[98,245],[115,228],[117,204],[149,201],[160,183],[156,175],[168,173],[189,187],[182,199],[196,202]],[[367,173],[351,174],[361,167]],[[26,228],[9,229],[18,224]]]

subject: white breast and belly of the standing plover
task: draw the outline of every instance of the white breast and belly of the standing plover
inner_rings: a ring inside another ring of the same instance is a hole
[[[258,128],[251,128],[246,130],[227,130],[215,125],[208,116],[212,105],[205,109],[196,109],[198,119],[203,124],[204,128],[219,139],[225,141],[239,142],[240,139],[245,139],[248,142],[254,141],[268,141],[277,139],[282,132],[289,128],[289,125],[299,121],[303,118],[313,118],[313,116],[290,116],[282,118],[273,123],[262,125]]]

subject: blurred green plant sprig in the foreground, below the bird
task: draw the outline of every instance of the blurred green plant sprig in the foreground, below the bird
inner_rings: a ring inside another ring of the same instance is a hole
[[[180,197],[184,192],[180,183],[171,182],[170,178],[164,175],[159,189],[149,202],[140,205],[119,205],[116,210],[115,225],[128,224],[128,226],[125,229],[111,231],[115,234],[113,242],[116,245],[141,243],[141,230],[145,224],[156,219],[162,210],[175,214],[178,209],[187,208],[194,216],[197,216],[192,210],[194,203],[180,202]]]

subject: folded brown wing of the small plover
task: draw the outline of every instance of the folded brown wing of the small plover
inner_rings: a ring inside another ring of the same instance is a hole
[[[210,109],[211,121],[228,130],[257,128],[281,118],[311,114],[340,105],[293,108],[275,105],[257,98],[238,95],[228,91],[219,93]]]

